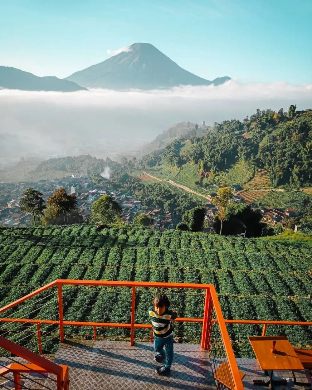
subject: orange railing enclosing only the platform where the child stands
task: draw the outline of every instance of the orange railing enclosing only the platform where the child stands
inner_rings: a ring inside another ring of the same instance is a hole
[[[110,287],[129,287],[131,288],[131,321],[129,323],[105,323],[105,322],[84,322],[84,321],[66,321],[63,314],[63,289],[64,285],[85,285],[85,286],[110,286]],[[186,283],[153,283],[153,282],[120,282],[120,281],[105,281],[105,280],[67,280],[58,279],[54,282],[37,289],[36,291],[23,296],[22,298],[0,308],[0,314],[7,312],[17,305],[27,301],[30,298],[43,293],[44,291],[57,287],[58,295],[58,320],[55,319],[25,319],[25,318],[12,318],[11,315],[0,318],[2,323],[20,323],[20,324],[34,324],[36,326],[36,334],[38,340],[39,353],[42,353],[42,335],[40,330],[41,324],[57,325],[60,332],[60,341],[64,340],[64,326],[92,326],[94,328],[94,339],[97,337],[97,327],[115,327],[115,328],[129,328],[130,329],[130,343],[134,344],[134,335],[136,328],[151,329],[151,324],[139,324],[135,323],[135,293],[137,287],[156,288],[156,289],[196,289],[204,290],[204,316],[203,318],[177,318],[178,322],[195,322],[202,323],[202,336],[201,347],[205,350],[209,350],[212,341],[212,328],[213,324],[218,324],[220,331],[220,342],[222,342],[224,356],[220,356],[222,359],[226,359],[230,367],[230,376],[237,390],[243,389],[243,383],[239,376],[238,366],[235,360],[234,352],[231,346],[230,338],[227,333],[225,320],[222,315],[222,310],[218,301],[218,297],[213,285],[208,284],[186,284]],[[152,339],[152,331],[151,331]],[[23,357],[23,356],[22,356]]]

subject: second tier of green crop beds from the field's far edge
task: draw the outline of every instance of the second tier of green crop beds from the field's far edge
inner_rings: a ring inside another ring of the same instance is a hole
[[[269,255],[251,252],[224,252],[204,248],[158,248],[120,246],[81,248],[73,246],[50,247],[44,245],[6,245],[0,251],[0,270],[13,264],[53,265],[112,265],[110,257],[118,253],[122,266],[179,266],[207,269],[261,270],[282,272],[304,272],[311,268],[310,255]],[[15,266],[16,267],[16,266]]]

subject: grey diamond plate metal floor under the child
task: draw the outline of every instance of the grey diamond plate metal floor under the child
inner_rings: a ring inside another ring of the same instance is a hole
[[[89,389],[180,389],[215,388],[209,355],[199,345],[174,344],[170,376],[154,370],[152,343],[121,341],[66,341],[60,344],[55,363],[69,366],[69,388]]]

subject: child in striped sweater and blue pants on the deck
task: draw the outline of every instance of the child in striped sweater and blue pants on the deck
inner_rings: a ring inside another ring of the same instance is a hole
[[[155,362],[162,362],[163,347],[165,347],[165,364],[157,367],[155,372],[159,375],[169,375],[173,360],[173,328],[170,325],[170,319],[176,319],[177,313],[175,310],[168,310],[170,302],[165,294],[157,295],[152,303],[153,306],[149,308],[149,316],[154,332]]]

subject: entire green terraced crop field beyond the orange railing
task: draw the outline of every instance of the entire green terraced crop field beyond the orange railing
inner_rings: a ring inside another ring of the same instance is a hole
[[[212,283],[225,318],[312,321],[311,245],[310,240],[283,243],[175,230],[0,228],[0,307],[57,278]],[[154,294],[138,289],[137,323],[148,322]],[[200,291],[168,295],[179,316],[202,317]],[[53,296],[44,302],[49,299]],[[130,322],[130,307],[127,288],[64,287],[67,320]],[[48,318],[45,310],[53,312],[57,306],[46,305],[38,318]],[[253,357],[247,337],[261,334],[261,327],[236,324],[228,330],[236,356]],[[176,323],[175,331],[177,337],[196,341],[201,327]],[[92,330],[73,332],[86,335]],[[282,333],[294,344],[312,344],[312,327],[267,328],[268,335]],[[104,328],[98,334],[128,337],[129,330]],[[135,336],[149,338],[149,332],[136,330]]]

